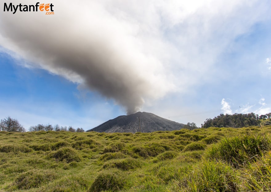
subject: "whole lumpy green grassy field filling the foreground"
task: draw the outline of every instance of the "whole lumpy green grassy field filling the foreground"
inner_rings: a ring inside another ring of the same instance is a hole
[[[0,132],[0,191],[270,191],[270,132]]]

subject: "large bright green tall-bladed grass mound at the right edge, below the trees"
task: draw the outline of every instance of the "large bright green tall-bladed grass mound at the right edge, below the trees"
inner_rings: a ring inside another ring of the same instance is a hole
[[[207,152],[206,157],[222,159],[240,167],[270,149],[270,140],[263,135],[224,138]]]

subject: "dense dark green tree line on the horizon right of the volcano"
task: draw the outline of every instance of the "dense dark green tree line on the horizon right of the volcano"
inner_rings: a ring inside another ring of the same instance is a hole
[[[263,121],[263,120],[269,121]],[[271,125],[271,113],[265,115],[258,115],[254,113],[249,114],[220,114],[217,117],[211,119],[206,119],[203,124],[201,124],[201,128],[208,127],[248,127],[248,126],[260,126],[262,122],[262,126]]]

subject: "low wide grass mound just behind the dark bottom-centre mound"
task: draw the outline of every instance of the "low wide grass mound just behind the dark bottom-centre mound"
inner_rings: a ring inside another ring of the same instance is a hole
[[[134,158],[114,160],[103,165],[103,168],[118,168],[123,171],[135,170],[140,167],[141,167],[141,162],[138,159],[134,159]]]

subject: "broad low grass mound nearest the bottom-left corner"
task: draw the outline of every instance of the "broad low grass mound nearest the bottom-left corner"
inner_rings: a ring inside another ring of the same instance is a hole
[[[53,170],[30,170],[20,174],[14,181],[17,189],[37,188],[47,182],[51,182],[56,178]]]

